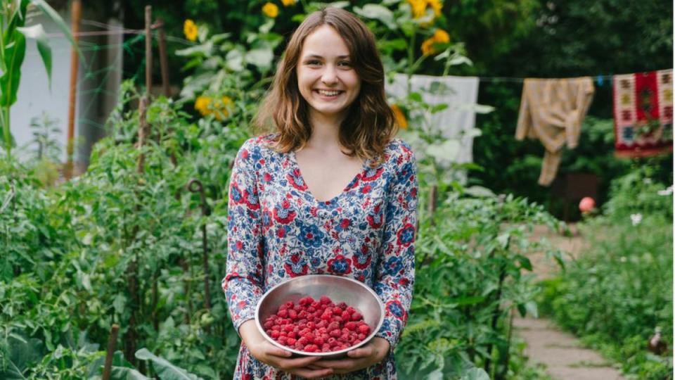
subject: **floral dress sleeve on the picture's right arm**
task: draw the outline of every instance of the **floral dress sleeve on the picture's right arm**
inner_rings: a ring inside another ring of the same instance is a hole
[[[406,144],[391,178],[385,229],[376,270],[375,293],[385,304],[385,321],[378,336],[392,350],[408,320],[415,278],[415,234],[418,181],[416,161]]]

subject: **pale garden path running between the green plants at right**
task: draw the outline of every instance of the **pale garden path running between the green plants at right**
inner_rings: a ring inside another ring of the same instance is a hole
[[[548,232],[547,227],[534,229],[533,239],[541,236],[551,241],[553,246],[577,257],[584,246],[584,240],[572,224],[572,236],[561,236]],[[544,253],[530,256],[533,271],[538,279],[551,276],[556,270],[555,262],[548,260]],[[532,362],[546,366],[548,374],[560,380],[617,380],[623,376],[612,367],[612,363],[593,350],[584,348],[579,340],[566,332],[560,331],[551,321],[545,318],[522,318],[517,315],[513,321],[516,334],[527,342],[525,355]]]

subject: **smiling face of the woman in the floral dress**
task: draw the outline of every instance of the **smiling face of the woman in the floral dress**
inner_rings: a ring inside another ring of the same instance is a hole
[[[316,113],[344,118],[361,90],[351,59],[345,40],[329,25],[321,25],[304,39],[297,85],[309,104],[310,118]]]

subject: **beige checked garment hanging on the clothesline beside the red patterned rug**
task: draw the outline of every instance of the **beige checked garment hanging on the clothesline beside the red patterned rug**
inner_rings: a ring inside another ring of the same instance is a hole
[[[581,122],[591,106],[593,91],[591,77],[526,79],[523,83],[515,139],[527,136],[544,144],[541,186],[548,186],[555,179],[563,146],[577,147]]]

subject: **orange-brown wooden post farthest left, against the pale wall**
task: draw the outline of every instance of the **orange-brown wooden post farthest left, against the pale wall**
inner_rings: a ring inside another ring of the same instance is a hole
[[[79,20],[82,18],[82,1],[73,0],[70,8],[70,30],[72,38],[75,40],[75,46],[70,49],[70,96],[68,97],[68,141],[66,142],[66,163],[64,170],[65,179],[72,177],[73,164],[72,153],[75,144],[75,109],[77,102],[77,68],[79,66],[79,55],[77,54],[77,43],[79,42]]]

